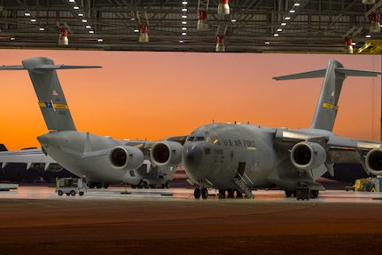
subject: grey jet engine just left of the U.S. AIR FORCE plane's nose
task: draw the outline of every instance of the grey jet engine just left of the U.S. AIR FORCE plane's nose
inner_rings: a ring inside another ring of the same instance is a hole
[[[175,166],[182,163],[182,151],[180,143],[162,140],[152,146],[150,160],[156,166]]]

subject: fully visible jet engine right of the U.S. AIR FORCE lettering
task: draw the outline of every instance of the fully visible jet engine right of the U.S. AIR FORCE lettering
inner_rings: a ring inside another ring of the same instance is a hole
[[[301,170],[312,170],[326,161],[324,147],[315,142],[301,141],[292,147],[292,164]]]

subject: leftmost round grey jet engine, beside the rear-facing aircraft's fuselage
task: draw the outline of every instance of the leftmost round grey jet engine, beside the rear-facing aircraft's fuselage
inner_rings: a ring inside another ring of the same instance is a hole
[[[137,147],[117,146],[109,152],[113,167],[120,170],[134,170],[144,163],[144,153]]]

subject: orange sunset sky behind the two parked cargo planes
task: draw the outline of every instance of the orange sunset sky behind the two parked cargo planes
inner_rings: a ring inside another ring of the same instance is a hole
[[[330,59],[381,70],[380,55],[68,50],[0,50],[0,65],[39,56],[103,67],[58,70],[58,78],[77,130],[115,139],[164,139],[213,120],[306,128],[324,79],[277,82],[273,76],[326,68]],[[379,139],[380,85],[380,77],[347,78],[337,134]],[[0,86],[0,143],[10,150],[40,147],[36,137],[47,129],[27,71],[0,71]]]

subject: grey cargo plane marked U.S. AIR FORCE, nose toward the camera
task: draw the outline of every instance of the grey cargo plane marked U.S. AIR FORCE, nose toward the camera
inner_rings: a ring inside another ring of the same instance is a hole
[[[268,128],[253,124],[200,126],[183,145],[183,167],[189,182],[199,185],[194,196],[207,198],[207,188],[223,197],[256,188],[282,188],[286,196],[309,188],[316,197],[324,186],[316,179],[333,176],[334,163],[361,163],[367,173],[382,174],[381,143],[342,138],[332,132],[342,83],[347,76],[378,76],[382,72],[344,68],[337,60],[328,67],[276,80],[324,77],[313,122],[308,129]],[[165,148],[165,147],[162,147]],[[171,156],[171,152],[168,151]],[[165,160],[162,160],[165,162]]]

